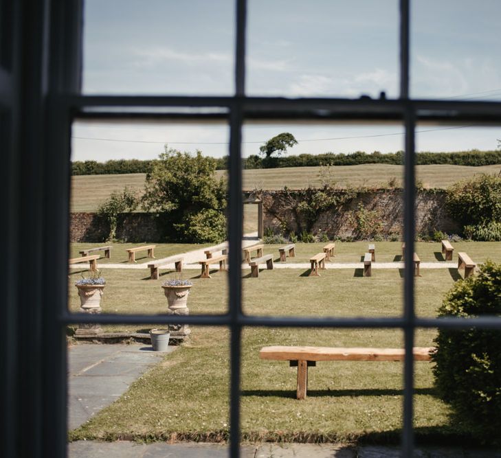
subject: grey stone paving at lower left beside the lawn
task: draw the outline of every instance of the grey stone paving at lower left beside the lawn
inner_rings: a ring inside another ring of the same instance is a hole
[[[138,377],[176,348],[153,352],[144,344],[69,347],[68,428],[78,428],[115,402]]]

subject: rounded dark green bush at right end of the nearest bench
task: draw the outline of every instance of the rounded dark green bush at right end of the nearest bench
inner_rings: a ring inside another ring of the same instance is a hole
[[[501,264],[487,261],[478,276],[456,283],[439,317],[501,316]],[[501,445],[501,332],[438,331],[433,360],[436,387],[456,419],[482,442]]]

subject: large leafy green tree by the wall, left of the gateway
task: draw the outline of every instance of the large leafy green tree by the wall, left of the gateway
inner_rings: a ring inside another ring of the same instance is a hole
[[[172,242],[221,242],[226,237],[226,183],[214,178],[216,159],[165,146],[146,174],[143,207],[158,215]]]

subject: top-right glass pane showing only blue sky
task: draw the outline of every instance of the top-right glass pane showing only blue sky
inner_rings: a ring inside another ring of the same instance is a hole
[[[496,0],[419,0],[412,5],[411,95],[500,100]]]

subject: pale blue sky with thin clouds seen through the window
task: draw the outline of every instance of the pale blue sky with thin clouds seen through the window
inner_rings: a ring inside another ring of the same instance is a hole
[[[398,0],[249,0],[247,95],[397,98]],[[414,0],[414,98],[501,100],[499,0]],[[83,93],[232,95],[233,0],[87,0]],[[290,132],[309,152],[403,149],[398,124],[250,124],[243,156]],[[72,160],[153,159],[171,148],[228,154],[224,124],[76,122]],[[418,126],[416,150],[492,150],[501,128]]]

